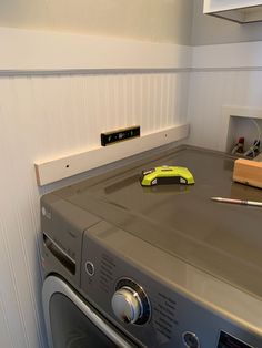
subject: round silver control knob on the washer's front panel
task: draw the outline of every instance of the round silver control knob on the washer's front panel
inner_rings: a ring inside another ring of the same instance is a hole
[[[127,324],[142,325],[150,317],[147,295],[139,285],[130,279],[119,282],[111,305],[117,318]]]

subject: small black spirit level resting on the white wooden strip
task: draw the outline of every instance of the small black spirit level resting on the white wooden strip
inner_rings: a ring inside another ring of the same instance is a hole
[[[101,145],[107,146],[125,140],[140,136],[140,125],[101,133]]]

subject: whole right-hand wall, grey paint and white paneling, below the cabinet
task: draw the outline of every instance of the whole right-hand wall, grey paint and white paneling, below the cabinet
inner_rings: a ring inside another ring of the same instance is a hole
[[[262,108],[262,41],[256,40],[262,40],[262,23],[204,16],[202,0],[194,1],[190,144],[224,151],[223,106]]]

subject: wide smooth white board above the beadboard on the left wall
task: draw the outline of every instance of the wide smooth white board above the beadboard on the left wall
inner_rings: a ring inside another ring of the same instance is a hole
[[[191,47],[0,28],[0,71],[188,69]]]

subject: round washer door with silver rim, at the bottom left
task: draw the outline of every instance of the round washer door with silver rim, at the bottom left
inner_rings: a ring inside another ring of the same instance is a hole
[[[61,278],[43,283],[42,303],[49,346],[53,348],[138,347],[121,335]]]

